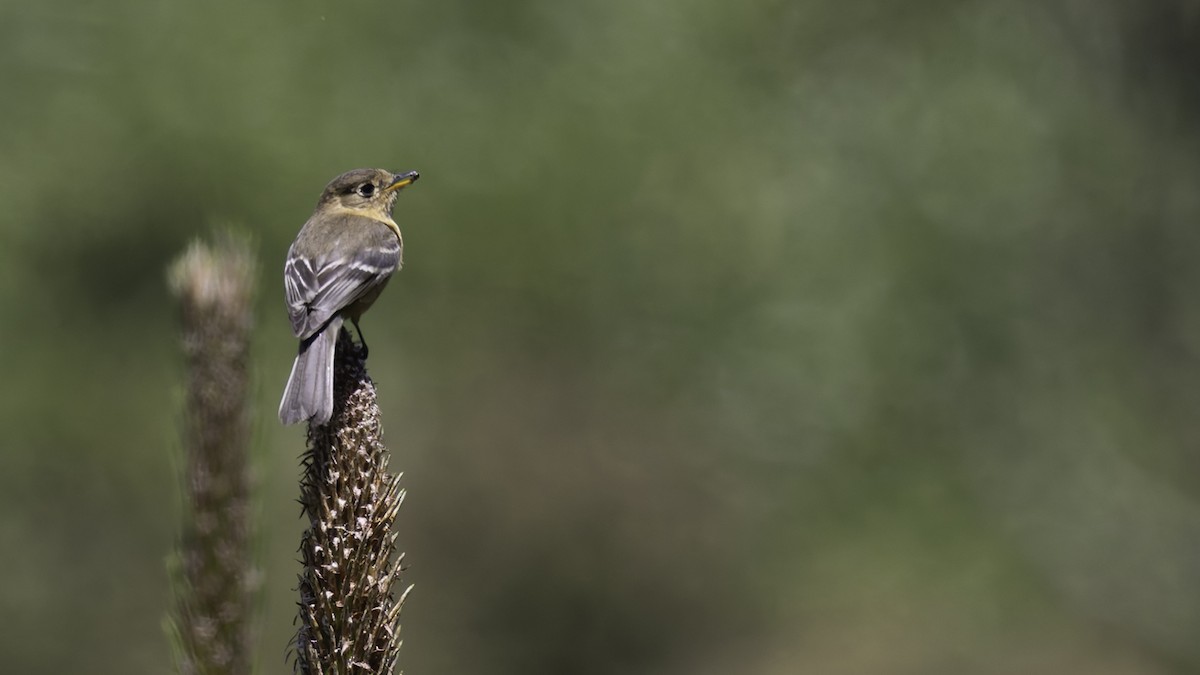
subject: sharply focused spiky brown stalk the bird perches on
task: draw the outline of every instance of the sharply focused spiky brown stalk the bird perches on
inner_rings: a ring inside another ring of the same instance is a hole
[[[334,417],[308,425],[300,501],[301,539],[296,664],[308,675],[392,673],[400,652],[403,554],[392,526],[404,490],[388,472],[376,389],[362,351],[338,335]]]

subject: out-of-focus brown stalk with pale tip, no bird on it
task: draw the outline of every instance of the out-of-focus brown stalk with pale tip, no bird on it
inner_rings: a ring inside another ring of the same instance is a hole
[[[175,665],[244,675],[257,573],[250,549],[250,331],[256,265],[246,239],[199,241],[172,265],[187,363],[187,503],[174,574]]]

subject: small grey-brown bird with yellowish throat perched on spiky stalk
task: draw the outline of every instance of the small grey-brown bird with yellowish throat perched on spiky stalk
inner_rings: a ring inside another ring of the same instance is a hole
[[[403,263],[404,240],[391,210],[420,174],[364,168],[325,186],[283,264],[283,289],[300,351],[292,364],[280,420],[325,424],[334,413],[334,350],[344,321],[359,319]]]

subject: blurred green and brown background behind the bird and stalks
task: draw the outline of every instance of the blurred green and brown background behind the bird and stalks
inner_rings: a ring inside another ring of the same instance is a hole
[[[1200,4],[0,2],[0,655],[169,669],[164,269],[416,168],[365,329],[455,674],[1200,673]]]

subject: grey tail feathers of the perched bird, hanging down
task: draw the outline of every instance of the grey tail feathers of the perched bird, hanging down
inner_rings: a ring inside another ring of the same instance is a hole
[[[280,401],[283,424],[306,419],[325,424],[334,416],[334,348],[341,330],[342,317],[335,316],[320,331],[300,342],[300,353]]]

